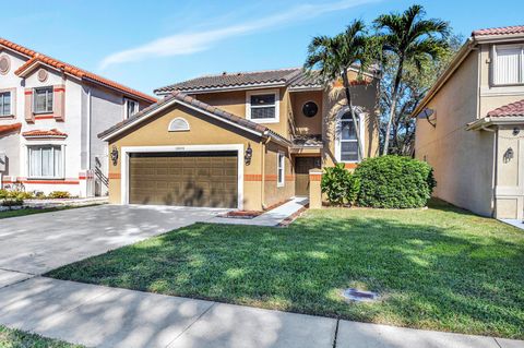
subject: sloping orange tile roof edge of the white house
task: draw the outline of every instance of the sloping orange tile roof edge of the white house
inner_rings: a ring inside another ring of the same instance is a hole
[[[83,80],[87,80],[87,81],[92,81],[92,82],[95,82],[95,83],[98,83],[98,84],[102,84],[102,85],[105,85],[107,87],[110,87],[110,88],[115,88],[115,89],[118,89],[124,94],[128,94],[128,95],[131,95],[131,96],[134,96],[134,97],[138,97],[138,98],[141,98],[141,99],[144,99],[144,100],[147,100],[147,101],[151,101],[151,103],[155,103],[156,101],[156,98],[150,96],[150,95],[146,95],[145,93],[142,93],[142,92],[139,92],[136,89],[132,89],[132,88],[129,88],[124,85],[121,85],[115,81],[110,81],[110,80],[107,80],[107,79],[104,79],[97,74],[94,74],[94,73],[91,73],[88,71],[85,71],[83,69],[80,69],[80,68],[76,68],[74,65],[71,65],[71,64],[68,64],[68,63],[64,63],[62,61],[59,61],[55,58],[51,58],[49,56],[46,56],[46,55],[43,55],[43,53],[39,53],[39,52],[36,52],[32,49],[28,49],[28,48],[25,48],[23,46],[20,46],[17,44],[14,44],[14,43],[11,43],[4,38],[1,38],[0,37],[0,46],[5,46],[14,51],[17,51],[24,56],[28,56],[29,57],[29,60],[26,61],[22,67],[20,67],[16,71],[15,71],[15,74],[21,74],[23,73],[27,68],[29,68],[33,63],[35,62],[41,62],[44,64],[48,64],[52,68],[56,68],[56,69],[59,69],[59,70],[62,70],[64,71],[66,73],[68,74],[71,74],[73,76],[76,76],[79,79],[83,79]]]

